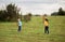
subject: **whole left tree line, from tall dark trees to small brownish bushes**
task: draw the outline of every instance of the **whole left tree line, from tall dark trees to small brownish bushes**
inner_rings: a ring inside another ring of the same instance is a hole
[[[20,15],[20,10],[15,4],[8,4],[6,10],[0,10],[0,22],[17,22],[20,17],[24,22],[30,20],[31,13],[27,15]]]

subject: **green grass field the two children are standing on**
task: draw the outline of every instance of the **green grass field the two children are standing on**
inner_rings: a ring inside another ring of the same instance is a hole
[[[16,23],[0,23],[0,42],[65,42],[65,16],[49,16],[50,33],[44,33],[42,18],[32,16],[23,22],[22,31]]]

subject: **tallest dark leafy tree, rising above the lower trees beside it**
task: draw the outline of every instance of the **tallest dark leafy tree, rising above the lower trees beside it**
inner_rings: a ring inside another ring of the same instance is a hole
[[[9,20],[16,20],[18,17],[18,10],[17,6],[15,6],[15,4],[9,4],[6,6],[6,11],[8,11],[8,15],[9,15]]]

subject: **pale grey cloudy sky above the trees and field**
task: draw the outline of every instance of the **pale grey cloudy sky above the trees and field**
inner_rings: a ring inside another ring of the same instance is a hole
[[[0,0],[0,10],[5,9],[10,3],[15,3],[23,15],[27,13],[50,15],[57,12],[60,8],[65,10],[65,0]]]

